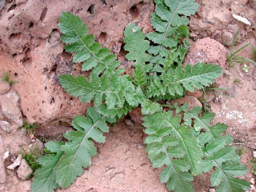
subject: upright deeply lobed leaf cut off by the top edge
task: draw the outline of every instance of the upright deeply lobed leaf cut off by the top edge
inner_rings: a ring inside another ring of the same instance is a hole
[[[151,63],[154,63],[154,70],[162,72],[162,67],[165,62],[165,57],[168,56],[169,51],[176,49],[179,40],[176,30],[178,26],[187,25],[189,20],[186,16],[195,14],[198,10],[199,4],[194,0],[155,0],[155,13],[152,14],[151,24],[156,32],[148,33],[146,37],[154,42],[148,52],[153,54]],[[184,35],[183,37],[186,37]]]

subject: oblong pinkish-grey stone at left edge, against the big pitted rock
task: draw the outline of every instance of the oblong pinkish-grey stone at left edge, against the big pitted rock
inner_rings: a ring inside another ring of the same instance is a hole
[[[20,112],[18,105],[8,100],[5,95],[0,96],[0,100],[3,115],[7,119],[13,120],[18,126],[22,126],[22,113]]]

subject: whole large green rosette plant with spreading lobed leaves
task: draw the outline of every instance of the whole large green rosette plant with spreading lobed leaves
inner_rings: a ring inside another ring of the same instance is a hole
[[[88,35],[87,26],[79,17],[68,12],[60,16],[58,26],[66,51],[75,53],[73,62],[83,62],[82,70],[91,73],[89,80],[64,74],[59,82],[82,102],[93,101],[94,108],[87,109],[86,117],[74,117],[76,131],[64,134],[67,142],[46,143],[51,154],[38,160],[42,168],[35,172],[32,191],[67,188],[82,174],[83,167],[91,165],[97,152],[93,140],[104,142],[102,133],[109,131],[108,123],[118,121],[138,106],[145,116],[148,157],[154,167],[165,165],[160,180],[167,182],[169,190],[193,191],[193,176],[209,172],[212,167],[216,171],[211,183],[219,185],[220,191],[224,191],[223,185],[229,187],[227,191],[250,187],[248,182],[233,178],[247,169],[240,164],[236,148],[227,146],[232,142],[231,136],[221,136],[226,126],[209,125],[215,114],[199,117],[201,109],[188,112],[186,104],[182,108],[177,104],[168,106],[176,109],[177,116],[162,112],[165,104],[158,101],[182,97],[186,90],[203,89],[220,76],[222,69],[212,63],[182,67],[189,37],[186,16],[196,13],[199,5],[195,1],[155,3],[151,23],[156,32],[144,35],[133,23],[124,30],[124,50],[129,52],[126,58],[134,61],[133,77],[121,75],[120,61],[109,49],[101,48],[93,35]],[[181,112],[185,114],[183,120]]]

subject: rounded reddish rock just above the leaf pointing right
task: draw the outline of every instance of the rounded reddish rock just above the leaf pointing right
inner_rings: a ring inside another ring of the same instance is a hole
[[[193,44],[186,55],[184,65],[195,65],[197,62],[214,63],[224,70],[226,68],[226,49],[220,42],[209,37]]]

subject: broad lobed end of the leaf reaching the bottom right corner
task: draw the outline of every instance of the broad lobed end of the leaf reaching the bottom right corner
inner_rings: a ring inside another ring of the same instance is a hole
[[[226,143],[225,139],[219,138],[206,145],[204,171],[208,172],[215,167],[215,172],[212,173],[210,180],[212,186],[219,186],[218,192],[248,190],[250,184],[247,181],[234,178],[234,176],[245,175],[247,168],[240,164],[236,147],[226,146]]]

